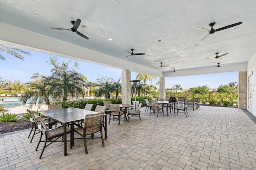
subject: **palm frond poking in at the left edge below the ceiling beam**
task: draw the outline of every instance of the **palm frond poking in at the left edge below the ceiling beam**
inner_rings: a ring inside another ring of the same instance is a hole
[[[15,48],[15,47],[10,47],[8,45],[2,45],[0,44],[0,51],[13,55],[21,60],[24,60],[24,57],[20,53],[24,53],[26,55],[31,55],[29,52],[24,51],[23,49]],[[0,59],[5,60],[4,56],[0,54]]]

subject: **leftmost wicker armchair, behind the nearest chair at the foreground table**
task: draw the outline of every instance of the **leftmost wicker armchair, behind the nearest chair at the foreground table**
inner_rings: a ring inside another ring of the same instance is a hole
[[[32,123],[32,128],[31,128],[31,130],[30,130],[30,133],[29,133],[29,135],[28,135],[28,138],[30,137],[30,134],[32,133],[32,131],[34,131],[34,133],[33,133],[33,135],[32,135],[32,138],[31,138],[31,140],[30,140],[30,143],[32,142],[32,140],[33,140],[33,138],[34,138],[34,136],[35,136],[35,134],[38,134],[39,132],[40,132],[40,130],[38,129],[38,125],[41,125],[41,123],[40,123],[40,121],[38,121],[37,119],[36,119],[36,116],[30,111],[30,110],[28,110],[27,109],[27,112],[30,114],[30,116],[32,117],[32,118],[30,118],[29,120],[30,120],[30,122]],[[52,127],[52,125],[56,125],[56,121],[54,121],[54,122],[49,122],[49,120],[48,120],[48,118],[46,118],[46,119],[43,119],[43,121],[46,123],[46,125],[48,125],[48,126],[50,126],[50,128]],[[37,131],[37,132],[36,132]]]

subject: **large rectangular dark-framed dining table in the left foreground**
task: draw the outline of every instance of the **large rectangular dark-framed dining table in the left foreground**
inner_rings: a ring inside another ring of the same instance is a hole
[[[83,121],[86,115],[95,114],[98,112],[70,107],[70,108],[63,108],[63,109],[53,109],[48,111],[38,111],[38,113],[44,116],[47,116],[50,119],[53,119],[64,125],[64,156],[66,156],[67,155],[67,125],[69,125],[70,123]],[[104,123],[105,138],[104,139],[107,138],[106,115],[107,114],[104,114],[104,119],[105,119],[104,120],[105,121]],[[72,139],[70,139],[70,142],[72,142]],[[72,144],[70,144],[70,149],[71,148],[72,148]]]

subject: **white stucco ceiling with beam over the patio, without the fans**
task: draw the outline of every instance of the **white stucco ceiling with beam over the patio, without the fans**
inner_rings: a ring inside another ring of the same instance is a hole
[[[70,29],[77,18],[89,40],[50,29]],[[255,0],[3,0],[0,43],[156,77],[246,71],[256,52],[255,18]],[[208,32],[196,28],[210,30],[212,22],[214,29],[242,24],[201,41]],[[132,48],[146,55],[126,57]],[[215,59],[216,52],[228,55]],[[219,62],[228,65],[211,67]]]

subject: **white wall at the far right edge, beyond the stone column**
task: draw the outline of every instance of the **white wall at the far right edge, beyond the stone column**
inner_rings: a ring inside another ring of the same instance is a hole
[[[247,74],[252,74],[251,87],[252,87],[252,111],[251,113],[256,116],[256,53],[247,63]],[[248,77],[247,77],[248,82]],[[247,99],[248,100],[248,99]],[[248,102],[247,102],[248,103]]]

